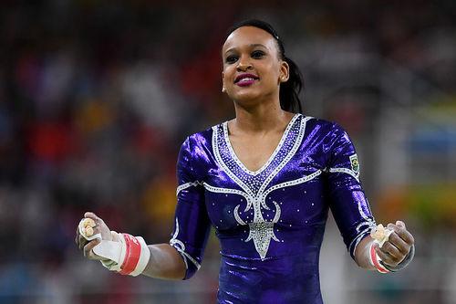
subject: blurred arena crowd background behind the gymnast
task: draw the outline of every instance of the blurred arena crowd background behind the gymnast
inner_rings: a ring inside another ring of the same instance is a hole
[[[332,219],[327,304],[456,303],[456,2],[2,1],[0,302],[213,303],[215,236],[190,281],[125,278],[74,244],[92,210],[169,240],[184,138],[233,118],[225,30],[271,22],[302,69],[306,115],[356,142],[379,223],[403,219],[417,256],[389,276],[348,257]]]

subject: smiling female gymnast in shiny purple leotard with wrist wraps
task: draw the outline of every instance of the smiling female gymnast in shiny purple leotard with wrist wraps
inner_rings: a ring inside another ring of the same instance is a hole
[[[235,118],[181,145],[170,243],[147,245],[88,212],[93,223],[81,221],[76,236],[84,256],[125,275],[187,279],[213,227],[222,249],[218,303],[323,303],[318,259],[330,209],[359,267],[406,267],[413,236],[401,221],[376,230],[347,132],[301,113],[301,74],[274,28],[233,26],[222,58]]]

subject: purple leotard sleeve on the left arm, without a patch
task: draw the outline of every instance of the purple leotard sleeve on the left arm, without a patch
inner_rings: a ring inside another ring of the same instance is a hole
[[[200,268],[211,222],[204,204],[204,188],[198,179],[191,139],[181,145],[177,162],[177,206],[170,244],[181,254],[187,268],[184,279]]]

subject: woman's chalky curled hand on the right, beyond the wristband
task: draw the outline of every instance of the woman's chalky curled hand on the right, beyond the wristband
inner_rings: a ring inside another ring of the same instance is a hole
[[[389,224],[387,227],[394,230],[394,232],[381,248],[378,244],[375,244],[375,251],[385,264],[396,267],[407,257],[415,240],[407,230],[404,222],[397,221],[396,225]]]

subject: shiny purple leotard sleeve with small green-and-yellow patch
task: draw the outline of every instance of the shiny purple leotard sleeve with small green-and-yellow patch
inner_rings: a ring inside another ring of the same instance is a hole
[[[347,132],[336,126],[328,166],[330,208],[347,249],[354,257],[358,243],[375,226],[368,199],[359,181],[358,155]]]

